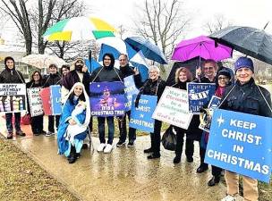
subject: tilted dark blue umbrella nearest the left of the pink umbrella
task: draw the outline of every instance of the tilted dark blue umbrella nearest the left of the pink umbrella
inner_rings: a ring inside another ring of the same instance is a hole
[[[167,63],[165,54],[163,54],[158,46],[152,44],[148,39],[130,37],[126,38],[124,41],[132,46],[137,52],[141,51],[146,58],[161,64]]]

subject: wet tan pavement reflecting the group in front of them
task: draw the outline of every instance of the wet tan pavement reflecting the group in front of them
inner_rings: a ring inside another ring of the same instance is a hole
[[[22,130],[27,137],[17,138],[14,143],[81,200],[216,201],[225,197],[224,184],[208,187],[210,172],[196,173],[197,143],[193,163],[183,157],[182,163],[174,165],[174,152],[163,147],[160,159],[147,159],[143,149],[149,147],[149,136],[137,138],[132,148],[115,147],[111,154],[99,154],[99,140],[92,137],[92,147],[82,150],[81,158],[69,164],[64,156],[56,154],[55,136],[33,137],[29,126]]]

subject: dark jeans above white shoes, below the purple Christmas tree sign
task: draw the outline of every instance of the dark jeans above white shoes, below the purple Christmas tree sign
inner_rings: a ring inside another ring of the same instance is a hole
[[[107,129],[108,129],[107,144],[112,145],[114,141],[114,135],[115,135],[115,118],[113,116],[98,117],[99,140],[100,140],[100,143],[104,143],[104,144],[106,143],[105,120],[107,122]]]

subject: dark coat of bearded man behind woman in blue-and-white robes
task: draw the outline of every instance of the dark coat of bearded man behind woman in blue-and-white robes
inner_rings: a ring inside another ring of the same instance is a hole
[[[83,79],[81,81],[77,71],[73,70],[73,71],[69,71],[68,74],[63,77],[61,84],[64,86],[64,88],[70,91],[72,86],[76,82],[82,82],[86,89],[87,94],[89,95],[89,81],[90,81],[90,76],[88,71],[83,72]]]

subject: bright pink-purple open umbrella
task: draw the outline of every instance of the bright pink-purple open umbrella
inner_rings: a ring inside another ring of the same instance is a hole
[[[220,61],[232,57],[233,49],[222,44],[218,44],[215,40],[200,36],[183,40],[174,47],[173,60],[185,62],[194,57],[200,56],[203,59],[213,59]]]

